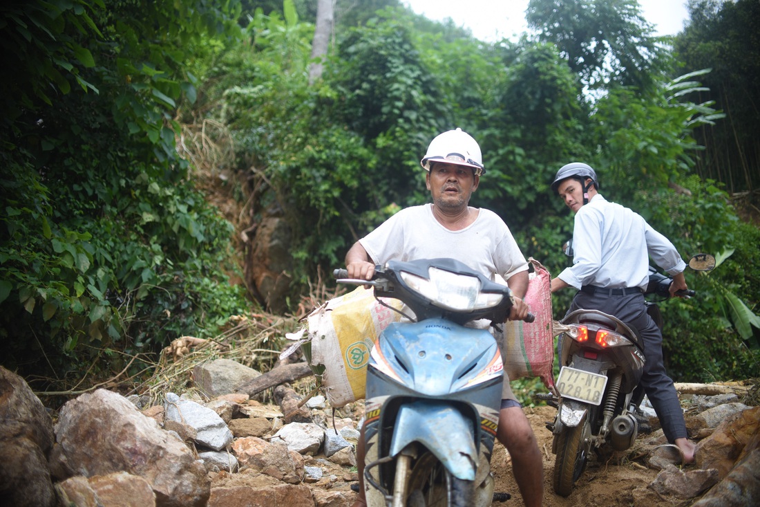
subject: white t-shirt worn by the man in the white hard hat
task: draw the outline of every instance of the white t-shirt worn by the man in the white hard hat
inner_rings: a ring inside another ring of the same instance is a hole
[[[481,208],[475,222],[461,231],[450,231],[432,214],[432,204],[411,206],[388,218],[359,240],[372,262],[449,258],[459,260],[489,279],[495,274],[508,280],[527,271],[523,256],[509,228],[496,213]]]

